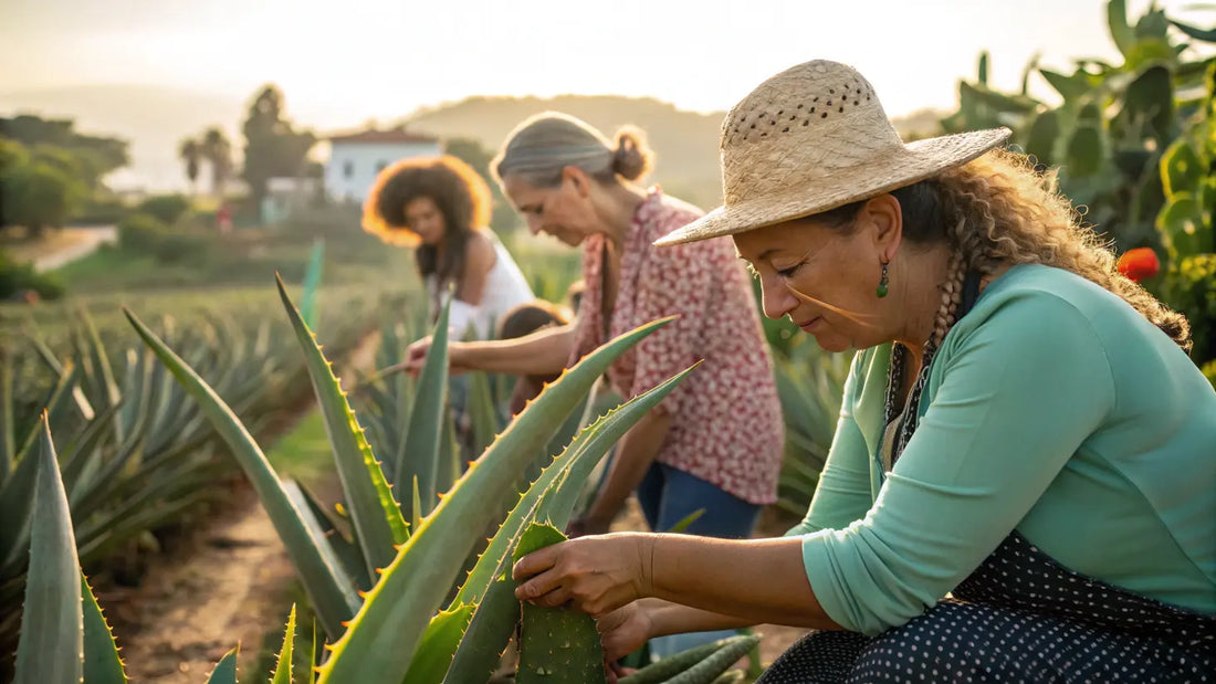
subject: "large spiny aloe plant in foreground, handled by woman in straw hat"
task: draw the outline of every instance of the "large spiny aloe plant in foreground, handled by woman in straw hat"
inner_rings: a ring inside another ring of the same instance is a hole
[[[420,516],[418,509],[412,511],[411,518],[415,518],[417,524],[406,536],[405,515],[398,503],[398,499],[405,498],[404,482],[394,482],[392,490],[388,487],[382,463],[367,446],[345,394],[313,339],[311,330],[292,305],[281,283],[280,295],[305,354],[306,367],[326,417],[334,458],[339,473],[343,474],[347,509],[355,522],[353,531],[365,556],[367,576],[376,580],[375,586],[361,597],[354,594],[356,581],[343,570],[343,561],[338,560],[333,542],[322,537],[321,530],[326,522],[319,519],[315,507],[306,501],[302,502],[302,492],[298,488],[293,491],[291,486],[278,480],[248,430],[197,373],[193,373],[134,313],[128,311],[128,317],[140,337],[190,396],[202,406],[204,414],[225,439],[230,451],[253,481],[276,530],[283,538],[326,633],[334,639],[334,643],[327,646],[330,654],[320,668],[320,680],[438,682],[438,678],[446,673],[450,658],[432,656],[452,654],[462,640],[467,641],[472,623],[466,629],[465,617],[471,615],[475,617],[480,607],[469,600],[469,603],[454,603],[447,610],[439,611],[450,587],[454,582],[458,583],[457,572],[465,558],[477,547],[480,530],[496,516],[505,516],[519,499],[514,486],[518,474],[537,458],[544,458],[545,447],[554,430],[567,420],[617,356],[666,321],[643,326],[612,340],[546,388],[497,436],[485,453],[471,464],[428,515]],[[434,357],[435,363],[444,361],[444,354],[445,351],[438,352]],[[636,398],[632,405],[589,430],[585,440],[575,440],[572,448],[567,450],[569,457],[564,459],[558,457],[554,460],[556,465],[550,465],[551,475],[540,479],[540,488],[536,490],[534,501],[546,493],[557,501],[562,485],[575,482],[573,469],[576,464],[591,462],[593,465],[593,460],[610,446],[612,441],[608,437],[623,434],[681,378]],[[429,386],[438,388],[439,384],[430,383]],[[430,391],[441,392],[441,389]],[[435,398],[435,396],[416,397],[411,414],[416,414],[421,405],[438,403]],[[420,419],[418,424],[428,425],[433,430],[434,420]],[[412,436],[406,435],[406,437],[412,441]],[[420,458],[423,460],[423,469],[429,465],[432,471],[435,470],[437,452],[434,446],[422,450]],[[413,454],[407,450],[405,457],[412,458]],[[394,467],[399,473],[409,471],[409,469],[402,470],[400,462]],[[584,475],[586,468],[582,465]],[[416,481],[417,476],[411,476],[411,487]],[[569,505],[573,505],[569,498],[564,499],[567,516]],[[520,513],[514,516],[512,527],[506,531],[500,530],[501,537],[497,544],[491,542],[491,548],[503,549],[503,553],[497,558],[495,558],[497,550],[489,556],[483,554],[484,565],[480,570],[474,567],[469,581],[465,582],[465,586],[469,587],[466,598],[485,597],[491,580],[500,576],[494,571],[499,570],[505,560],[505,550],[514,545],[516,535],[528,521],[530,518]],[[340,543],[345,543],[345,539]],[[392,559],[387,566],[381,565],[385,555]],[[474,583],[484,588],[473,589]],[[361,603],[359,598],[362,598]],[[483,620],[482,623],[486,621]],[[454,624],[460,629],[454,628]],[[501,651],[507,638],[510,634],[506,634],[501,644],[492,646],[496,649],[495,654]],[[424,650],[420,648],[423,644],[426,644]]]

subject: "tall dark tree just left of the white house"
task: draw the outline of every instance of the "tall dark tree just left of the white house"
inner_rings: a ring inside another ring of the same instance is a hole
[[[276,176],[297,177],[304,173],[309,149],[316,143],[313,131],[297,131],[283,115],[283,94],[266,85],[253,98],[244,132],[242,177],[249,194],[260,205],[268,181]]]

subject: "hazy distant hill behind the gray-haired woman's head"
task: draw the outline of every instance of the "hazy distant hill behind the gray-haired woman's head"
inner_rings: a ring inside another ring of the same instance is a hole
[[[404,123],[412,130],[440,137],[473,137],[486,148],[497,149],[519,121],[546,109],[579,117],[607,136],[626,124],[641,128],[657,157],[651,181],[706,210],[721,203],[717,137],[725,112],[688,112],[649,97],[610,95],[469,97],[420,109]],[[895,124],[901,135],[924,137],[936,132],[940,115],[922,111]]]

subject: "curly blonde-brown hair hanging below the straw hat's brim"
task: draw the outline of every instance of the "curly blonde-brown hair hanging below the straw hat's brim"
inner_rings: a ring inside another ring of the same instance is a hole
[[[1003,265],[1042,264],[1071,271],[1119,295],[1183,350],[1190,326],[1181,313],[1116,268],[1115,255],[1060,193],[1054,171],[1038,174],[1024,154],[990,152],[927,181],[962,268],[990,275]],[[951,295],[962,283],[950,283]]]

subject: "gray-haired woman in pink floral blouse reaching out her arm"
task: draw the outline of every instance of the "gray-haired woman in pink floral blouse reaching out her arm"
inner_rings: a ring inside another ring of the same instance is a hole
[[[783,443],[760,317],[730,241],[652,247],[702,211],[634,182],[649,162],[640,132],[623,130],[609,142],[564,114],[536,115],[511,134],[492,168],[533,233],[582,247],[586,290],[574,323],[516,340],[454,343],[451,363],[554,373],[614,335],[677,315],[617,361],[612,386],[630,398],[704,363],[621,439],[570,532],[606,532],[636,490],[655,531],[704,509],[689,533],[744,538],[776,498]],[[410,347],[407,369],[421,367],[428,346]]]

